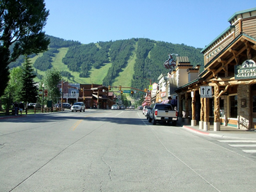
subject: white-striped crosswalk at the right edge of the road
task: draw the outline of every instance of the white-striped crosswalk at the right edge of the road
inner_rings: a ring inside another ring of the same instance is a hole
[[[256,153],[256,140],[218,140],[221,143],[228,143],[230,147],[242,148],[243,152]]]

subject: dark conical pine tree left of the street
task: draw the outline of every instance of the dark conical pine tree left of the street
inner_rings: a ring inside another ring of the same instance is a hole
[[[38,98],[37,87],[33,80],[35,77],[36,75],[31,67],[30,60],[28,56],[25,56],[22,65],[22,90],[20,92],[20,97],[26,104],[27,102],[36,102]]]

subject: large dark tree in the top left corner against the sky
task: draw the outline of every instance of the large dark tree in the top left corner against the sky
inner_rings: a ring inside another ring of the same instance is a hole
[[[44,0],[0,1],[0,96],[8,84],[8,65],[12,61],[22,54],[47,50],[49,39],[45,38],[42,29],[48,15]]]

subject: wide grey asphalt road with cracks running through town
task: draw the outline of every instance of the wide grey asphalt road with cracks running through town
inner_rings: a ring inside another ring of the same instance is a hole
[[[0,191],[255,191],[256,156],[142,111],[0,120]]]

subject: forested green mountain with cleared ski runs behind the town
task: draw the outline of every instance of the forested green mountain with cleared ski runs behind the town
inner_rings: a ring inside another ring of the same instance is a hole
[[[47,38],[51,40],[49,50],[38,56],[29,56],[38,79],[45,70],[55,67],[70,82],[106,86],[121,84],[142,90],[148,87],[148,79],[154,83],[162,73],[168,73],[163,64],[170,53],[188,56],[191,65],[204,65],[201,49],[184,44],[157,42],[148,38],[81,44],[54,36]],[[22,59],[20,57],[9,67],[21,65]],[[120,80],[122,76],[126,79]]]

